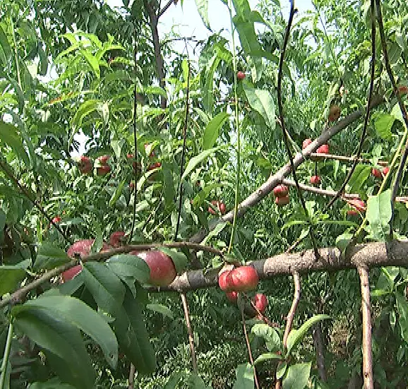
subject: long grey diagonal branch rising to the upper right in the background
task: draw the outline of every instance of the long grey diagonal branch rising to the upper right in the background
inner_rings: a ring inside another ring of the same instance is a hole
[[[376,96],[373,97],[373,102],[371,103],[371,107],[375,108],[378,107],[383,102],[383,97]],[[328,143],[328,140],[335,136],[337,133],[342,131],[344,128],[352,124],[354,121],[359,119],[364,114],[364,109],[359,111],[353,112],[349,114],[349,116],[345,117],[344,119],[340,120],[335,126],[328,128],[324,131],[318,138],[313,140],[313,142],[308,145],[307,148],[304,148],[302,152],[298,152],[293,159],[294,167],[299,167],[299,165],[304,162],[306,157],[309,157],[312,152],[317,150],[321,145]],[[238,207],[238,216],[241,217],[246,213],[246,211],[253,207],[254,205],[258,204],[263,198],[268,196],[268,194],[275,188],[275,186],[282,183],[284,177],[288,176],[291,172],[290,164],[285,164],[280,170],[278,170],[275,174],[271,175],[267,181],[265,181],[256,191],[251,193],[244,201],[239,204]],[[210,230],[215,229],[215,227],[220,222],[232,222],[234,219],[234,210],[230,210],[229,213],[225,214],[224,216],[211,220],[208,223],[208,227]],[[191,242],[200,242],[207,236],[208,230],[201,229],[199,232],[193,235],[189,240]]]

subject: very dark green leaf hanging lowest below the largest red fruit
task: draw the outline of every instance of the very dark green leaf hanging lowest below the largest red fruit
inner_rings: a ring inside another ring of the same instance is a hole
[[[140,302],[128,290],[112,325],[121,349],[137,371],[143,374],[155,371],[155,351],[150,345]]]

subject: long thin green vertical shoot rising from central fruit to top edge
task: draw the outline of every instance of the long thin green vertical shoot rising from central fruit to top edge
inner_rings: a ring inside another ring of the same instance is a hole
[[[232,35],[232,67],[234,69],[234,100],[235,100],[235,126],[236,126],[236,187],[235,187],[235,202],[234,202],[234,220],[232,221],[231,239],[229,239],[228,253],[231,253],[232,245],[234,242],[234,234],[236,230],[236,218],[238,217],[238,203],[239,203],[239,184],[240,184],[240,171],[241,171],[241,131],[239,129],[239,107],[238,107],[238,95],[236,93],[236,52],[235,52],[235,40],[234,40],[234,23],[232,21],[232,0],[229,0],[229,20],[231,22],[231,35]]]

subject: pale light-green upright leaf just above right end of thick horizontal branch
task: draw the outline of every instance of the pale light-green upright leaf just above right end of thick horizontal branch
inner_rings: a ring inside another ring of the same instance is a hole
[[[391,189],[377,196],[370,196],[367,201],[366,217],[370,225],[368,238],[376,241],[386,241],[390,234],[390,220],[392,217]]]

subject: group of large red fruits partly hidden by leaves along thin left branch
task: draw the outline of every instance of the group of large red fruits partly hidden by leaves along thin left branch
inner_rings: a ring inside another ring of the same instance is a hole
[[[124,238],[124,232],[114,232],[109,238],[109,244],[104,243],[100,252],[102,253],[114,247],[121,246]],[[94,239],[83,239],[80,241],[76,241],[72,246],[68,248],[66,253],[71,258],[75,258],[76,254],[78,254],[80,258],[88,256],[90,254],[90,249],[93,242]],[[150,268],[150,285],[164,287],[170,285],[174,281],[174,278],[176,278],[177,272],[172,258],[162,253],[162,251],[131,251],[130,254],[142,258],[143,261],[148,264],[148,267]],[[78,273],[80,273],[81,270],[82,265],[76,265],[73,268],[64,271],[64,273],[62,273],[61,275],[63,282],[71,280]]]

